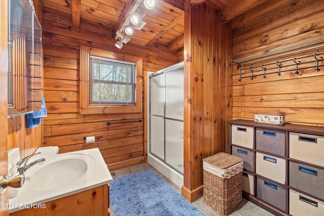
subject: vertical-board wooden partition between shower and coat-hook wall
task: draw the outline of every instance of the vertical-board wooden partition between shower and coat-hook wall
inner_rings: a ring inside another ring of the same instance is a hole
[[[231,116],[232,29],[203,3],[185,11],[184,186],[190,202],[203,195],[203,158],[226,151]]]

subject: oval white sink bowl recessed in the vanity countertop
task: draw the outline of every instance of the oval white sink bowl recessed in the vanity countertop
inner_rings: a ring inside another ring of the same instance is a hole
[[[50,191],[69,187],[94,166],[87,155],[69,154],[47,158],[27,172],[26,183],[35,191]]]

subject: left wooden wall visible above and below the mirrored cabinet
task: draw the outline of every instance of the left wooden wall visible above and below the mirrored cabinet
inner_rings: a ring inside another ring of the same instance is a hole
[[[33,0],[36,16],[42,25],[43,6],[40,0]],[[35,128],[26,128],[25,115],[8,118],[8,149],[19,148],[21,158],[33,154],[43,146],[43,120]]]

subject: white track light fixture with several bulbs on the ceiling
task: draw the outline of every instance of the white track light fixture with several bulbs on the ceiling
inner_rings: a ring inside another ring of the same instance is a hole
[[[145,16],[145,12],[139,11],[141,3],[142,0],[137,0],[137,3],[129,13],[129,16],[126,18],[123,26],[116,31],[115,39],[118,40],[115,43],[116,48],[123,48],[123,43],[127,44],[127,42],[131,39],[128,35],[133,35],[135,29],[141,30],[146,24],[146,22],[142,21],[142,18]],[[144,6],[146,9],[151,10],[154,8],[155,2],[154,0],[144,0]],[[124,35],[124,33],[127,35]]]

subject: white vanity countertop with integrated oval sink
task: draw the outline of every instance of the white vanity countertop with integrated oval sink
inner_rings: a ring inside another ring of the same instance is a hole
[[[39,159],[39,158],[31,158]],[[25,184],[9,199],[9,213],[108,184],[112,177],[98,148],[45,156],[25,172]],[[22,206],[22,207],[20,207]]]

